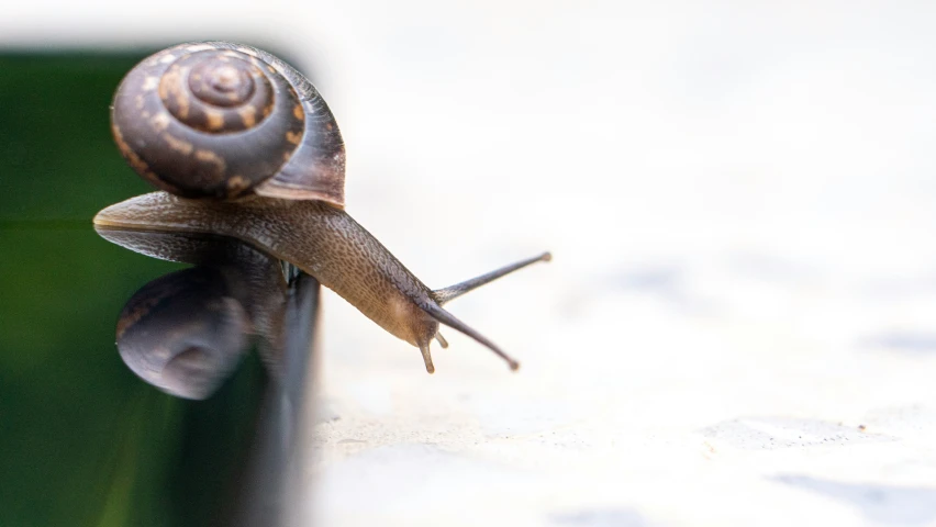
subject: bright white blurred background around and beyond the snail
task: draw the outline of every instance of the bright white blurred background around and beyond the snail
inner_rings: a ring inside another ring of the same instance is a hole
[[[328,293],[323,525],[936,525],[936,4],[109,2],[0,44],[235,40],[310,71],[348,212],[432,287]],[[107,109],[101,109],[105,111]]]

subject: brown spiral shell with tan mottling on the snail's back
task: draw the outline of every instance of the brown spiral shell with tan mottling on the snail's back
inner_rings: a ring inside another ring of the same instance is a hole
[[[260,49],[225,42],[164,49],[123,79],[111,121],[127,162],[163,190],[344,206],[334,115],[305,77]]]

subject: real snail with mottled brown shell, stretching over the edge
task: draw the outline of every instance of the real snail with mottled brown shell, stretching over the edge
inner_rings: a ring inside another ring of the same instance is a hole
[[[327,104],[296,69],[254,47],[174,46],[121,82],[111,112],[130,166],[163,189],[111,205],[102,227],[209,233],[288,261],[390,334],[417,347],[427,372],[439,325],[519,362],[445,303],[549,253],[432,290],[344,211],[345,149]]]

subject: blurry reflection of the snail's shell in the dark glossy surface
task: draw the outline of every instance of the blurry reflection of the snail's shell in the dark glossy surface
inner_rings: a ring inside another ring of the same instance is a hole
[[[221,273],[192,268],[144,285],[118,323],[118,350],[146,382],[186,399],[204,399],[245,354],[250,322]]]

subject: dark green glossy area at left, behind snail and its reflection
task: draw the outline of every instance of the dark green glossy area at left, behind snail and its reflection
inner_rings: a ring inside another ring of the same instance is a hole
[[[114,346],[130,296],[183,267],[91,227],[151,190],[109,130],[112,93],[145,55],[0,55],[3,527],[212,525],[236,492],[259,360],[189,402],[137,379]]]

